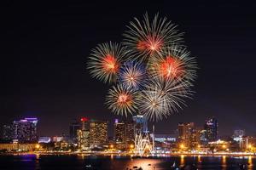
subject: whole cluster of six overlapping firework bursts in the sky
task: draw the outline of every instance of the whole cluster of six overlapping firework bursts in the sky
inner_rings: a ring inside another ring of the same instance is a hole
[[[102,43],[92,49],[87,68],[92,77],[115,82],[106,105],[121,116],[141,114],[158,121],[177,112],[191,98],[196,77],[195,58],[182,42],[183,33],[166,18],[134,19],[122,46]]]

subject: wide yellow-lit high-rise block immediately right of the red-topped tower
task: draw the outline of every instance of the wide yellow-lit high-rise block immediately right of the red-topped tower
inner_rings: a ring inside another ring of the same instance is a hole
[[[90,146],[108,142],[108,122],[90,120]]]

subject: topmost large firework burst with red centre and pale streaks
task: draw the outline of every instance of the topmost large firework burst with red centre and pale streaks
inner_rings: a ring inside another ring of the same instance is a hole
[[[178,33],[177,26],[167,18],[161,19],[155,14],[154,20],[149,20],[145,14],[142,22],[137,18],[134,20],[127,26],[129,30],[125,31],[124,44],[135,59],[146,59],[169,44],[182,42],[183,33]]]

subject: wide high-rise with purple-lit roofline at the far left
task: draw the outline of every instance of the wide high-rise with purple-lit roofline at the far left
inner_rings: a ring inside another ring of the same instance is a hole
[[[14,139],[19,143],[34,143],[38,141],[37,136],[38,119],[25,118],[14,122]]]

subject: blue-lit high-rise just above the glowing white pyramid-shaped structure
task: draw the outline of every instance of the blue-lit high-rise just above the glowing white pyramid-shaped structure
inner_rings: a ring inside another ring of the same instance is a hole
[[[142,115],[132,116],[135,123],[135,133],[148,133],[148,121]]]

